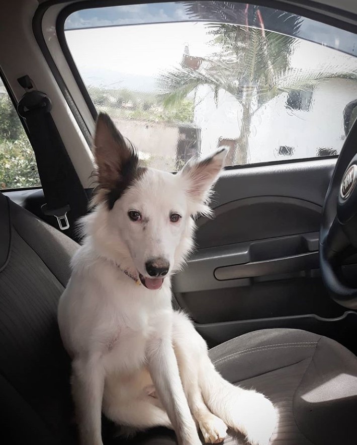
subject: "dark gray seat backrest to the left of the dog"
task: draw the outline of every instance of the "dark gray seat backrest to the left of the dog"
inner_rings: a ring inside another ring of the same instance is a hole
[[[0,193],[1,443],[75,443],[56,313],[77,247]]]

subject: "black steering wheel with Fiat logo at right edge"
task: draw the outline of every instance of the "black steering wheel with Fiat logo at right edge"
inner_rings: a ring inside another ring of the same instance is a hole
[[[357,309],[357,288],[343,281],[343,259],[357,251],[357,120],[338,157],[322,210],[319,259],[331,298]]]

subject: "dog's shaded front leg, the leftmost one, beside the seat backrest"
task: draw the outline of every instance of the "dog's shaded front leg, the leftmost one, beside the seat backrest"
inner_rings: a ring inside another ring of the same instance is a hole
[[[72,395],[78,422],[80,445],[103,445],[102,400],[104,371],[98,357],[72,362]]]

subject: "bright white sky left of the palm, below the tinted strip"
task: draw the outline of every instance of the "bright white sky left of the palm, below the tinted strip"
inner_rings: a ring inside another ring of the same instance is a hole
[[[206,56],[212,49],[204,23],[160,23],[66,31],[78,67],[154,76],[190,52]]]

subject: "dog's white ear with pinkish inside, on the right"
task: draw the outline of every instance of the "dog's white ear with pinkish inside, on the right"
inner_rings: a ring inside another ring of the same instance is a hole
[[[180,172],[185,181],[186,192],[191,201],[201,204],[197,212],[207,213],[204,205],[210,197],[211,188],[216,183],[224,166],[228,149],[220,149],[210,157],[201,160],[190,160]]]

